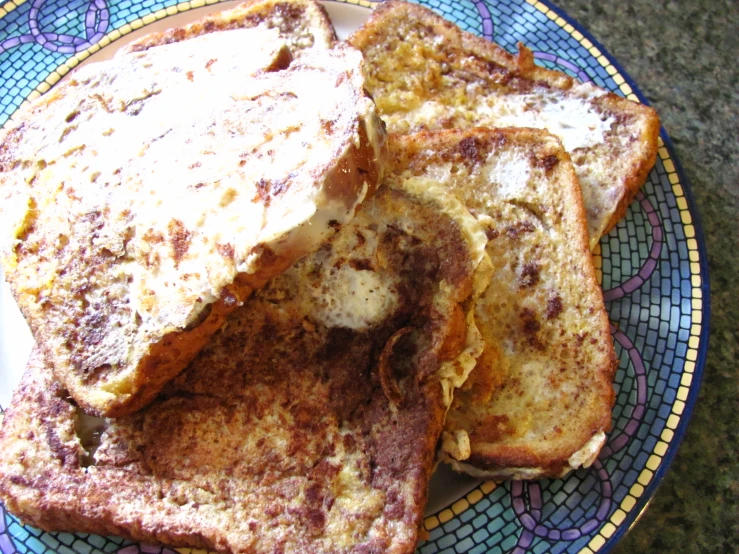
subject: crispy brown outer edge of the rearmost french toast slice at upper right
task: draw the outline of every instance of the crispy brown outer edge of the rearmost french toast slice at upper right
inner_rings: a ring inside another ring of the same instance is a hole
[[[444,34],[453,33],[460,36],[465,50],[492,60],[524,78],[543,82],[550,87],[561,90],[568,90],[579,83],[579,81],[565,73],[537,66],[534,63],[534,55],[531,50],[521,43],[518,44],[518,56],[514,56],[492,41],[463,31],[432,10],[402,0],[390,0],[380,4],[373,11],[369,20],[349,37],[348,42],[362,50],[361,45],[371,42],[376,30],[385,26],[388,20],[402,19],[409,16],[419,19],[431,27],[441,27]],[[644,185],[649,172],[654,166],[657,159],[660,121],[657,112],[652,107],[622,98],[610,91],[606,91],[606,95],[602,97],[601,101],[614,111],[631,113],[644,118],[646,121],[646,130],[640,137],[642,144],[645,145],[644,154],[632,162],[631,171],[623,183],[623,193],[603,231],[603,235],[606,235],[626,215],[629,204]]]

